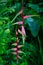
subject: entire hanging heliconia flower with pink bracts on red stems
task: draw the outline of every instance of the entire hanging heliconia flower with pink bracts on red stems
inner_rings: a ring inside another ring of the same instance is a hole
[[[18,15],[21,15],[23,13],[23,9],[16,15],[16,17]],[[32,17],[32,16],[37,16],[37,15],[26,15],[26,16],[22,16],[22,19],[26,19],[28,17]],[[23,53],[23,51],[18,50],[21,47],[23,47],[23,45],[19,45],[19,39],[18,39],[18,33],[22,35],[22,40],[23,40],[23,44],[25,42],[25,38],[26,38],[26,32],[25,32],[25,28],[24,28],[24,20],[19,21],[19,22],[15,22],[13,25],[21,25],[21,30],[18,28],[18,30],[16,31],[16,42],[13,43],[12,45],[15,46],[15,48],[12,48],[11,50],[14,50],[14,52],[12,52],[12,54],[16,55],[16,59],[21,59],[21,57],[19,56],[19,53]]]

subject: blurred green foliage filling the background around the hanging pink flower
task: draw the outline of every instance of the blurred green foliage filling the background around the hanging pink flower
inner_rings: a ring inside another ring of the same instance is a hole
[[[0,0],[0,65],[17,65],[15,56],[11,53],[12,43],[15,43],[15,31],[18,26],[12,25],[20,21],[15,15],[22,8],[22,0]],[[43,65],[43,0],[24,0],[24,15],[38,15],[24,20],[26,41],[21,49],[22,59],[18,65]],[[19,36],[21,39],[21,36]],[[22,41],[20,40],[20,43]]]

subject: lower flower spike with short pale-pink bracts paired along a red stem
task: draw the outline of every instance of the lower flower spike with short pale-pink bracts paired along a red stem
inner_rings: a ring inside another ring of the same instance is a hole
[[[12,54],[16,55],[16,60],[18,61],[18,59],[21,59],[21,57],[19,56],[19,53],[23,53],[23,51],[18,50],[18,49],[23,47],[23,45],[18,45],[19,39],[18,39],[18,32],[17,31],[16,31],[16,38],[17,38],[16,43],[12,44],[15,46],[15,48],[12,48],[11,50],[14,51],[14,52],[12,52]]]

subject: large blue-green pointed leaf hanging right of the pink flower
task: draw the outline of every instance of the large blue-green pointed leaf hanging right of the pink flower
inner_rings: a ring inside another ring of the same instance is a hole
[[[37,20],[33,18],[27,18],[25,21],[28,24],[32,35],[36,37],[40,28],[40,25],[38,24]]]

